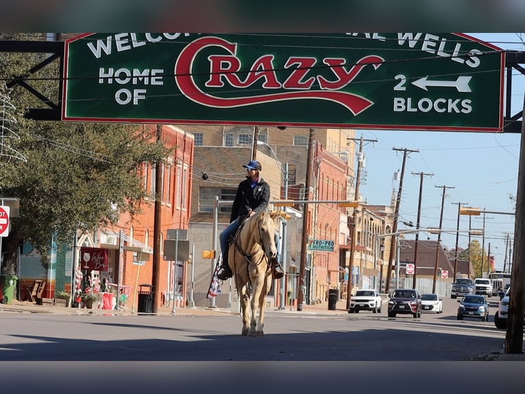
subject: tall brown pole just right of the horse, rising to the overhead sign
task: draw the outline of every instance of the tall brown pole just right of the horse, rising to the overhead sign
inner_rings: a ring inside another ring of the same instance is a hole
[[[311,168],[312,166],[312,154],[313,154],[313,139],[315,137],[315,132],[313,128],[310,128],[308,133],[308,155],[306,159],[306,181],[304,185],[304,199],[310,199],[310,177],[311,177]],[[297,311],[301,312],[303,310],[304,296],[306,293],[306,248],[308,247],[308,204],[303,205],[303,228],[301,236],[301,262],[299,269],[299,280],[297,281]]]

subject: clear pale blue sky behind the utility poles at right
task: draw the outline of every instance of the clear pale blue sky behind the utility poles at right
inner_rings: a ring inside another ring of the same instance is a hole
[[[525,34],[515,33],[468,33],[502,49],[525,51]],[[525,76],[513,76],[513,113],[522,111]],[[495,212],[513,212],[517,188],[517,169],[520,157],[519,134],[496,134],[487,132],[426,132],[357,130],[356,138],[377,139],[366,143],[366,178],[361,183],[360,194],[371,205],[384,205],[390,200],[392,190],[398,192],[399,183],[394,172],[402,168],[403,152],[393,148],[419,150],[408,154],[403,179],[400,224],[402,221],[417,222],[419,200],[419,174],[424,172],[422,192],[421,227],[439,227],[441,194],[446,186],[443,207],[443,229],[456,229],[458,202]],[[483,227],[483,215],[472,216],[472,229]],[[469,217],[461,216],[460,230],[469,229]],[[506,252],[506,234],[511,242],[514,233],[514,216],[500,213],[485,214],[485,251],[491,246],[496,269],[502,269]],[[413,239],[414,235],[406,235]],[[421,233],[419,239],[436,240],[437,235]],[[482,237],[476,237],[480,244]],[[454,248],[456,233],[442,233],[444,246]],[[511,244],[511,242],[509,242]],[[459,235],[459,247],[466,248],[467,233]],[[508,264],[508,261],[507,261]]]

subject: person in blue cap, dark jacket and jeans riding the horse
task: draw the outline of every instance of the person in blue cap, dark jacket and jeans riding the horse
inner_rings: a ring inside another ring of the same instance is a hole
[[[246,217],[265,211],[270,199],[270,186],[260,176],[260,171],[262,170],[260,163],[252,160],[247,165],[243,165],[243,167],[245,167],[247,171],[246,179],[239,183],[239,187],[237,187],[232,205],[230,224],[219,235],[222,262],[217,277],[221,280],[226,280],[233,275],[232,270],[230,270],[228,266],[228,257],[225,255],[225,253],[228,252],[230,237],[239,229],[239,226],[241,226],[241,223]],[[272,275],[275,279],[280,279],[284,276],[284,270],[282,270],[279,262],[280,242],[277,232],[275,242],[277,256],[275,259],[271,259],[271,266],[273,268]]]

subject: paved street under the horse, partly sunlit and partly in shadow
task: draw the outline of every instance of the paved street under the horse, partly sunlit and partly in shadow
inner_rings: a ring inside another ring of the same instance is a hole
[[[241,336],[241,318],[230,313],[5,312],[0,360],[459,361],[501,349],[503,330],[492,321],[456,321],[456,305],[446,300],[443,314],[422,318],[388,318],[386,308],[381,314],[270,310],[260,338]]]

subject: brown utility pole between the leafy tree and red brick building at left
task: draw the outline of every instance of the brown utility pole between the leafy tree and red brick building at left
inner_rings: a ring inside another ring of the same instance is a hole
[[[157,125],[157,141],[161,141],[162,125]],[[162,174],[160,173],[160,161],[155,164],[155,206],[154,206],[154,224],[153,224],[153,273],[151,274],[151,286],[153,286],[153,308],[152,312],[158,312],[158,304],[160,303],[160,233],[161,233],[161,211],[162,211]],[[176,262],[175,262],[176,264]],[[175,295],[175,294],[173,294]],[[173,299],[175,305],[175,299]]]

